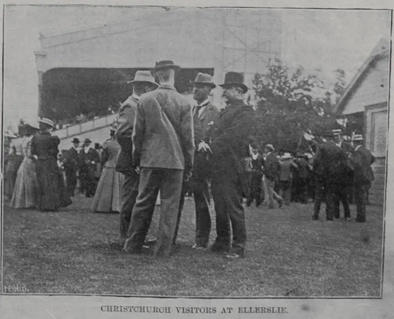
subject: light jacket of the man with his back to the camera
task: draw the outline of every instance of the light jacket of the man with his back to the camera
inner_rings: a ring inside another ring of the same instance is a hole
[[[170,85],[141,95],[133,132],[134,166],[192,168],[194,133],[191,106]]]

